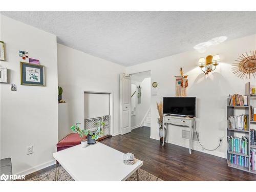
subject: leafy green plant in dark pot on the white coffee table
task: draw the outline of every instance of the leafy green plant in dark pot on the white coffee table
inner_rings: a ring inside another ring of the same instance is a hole
[[[102,127],[105,125],[104,122],[98,122],[95,124],[97,126],[95,129],[81,130],[79,124],[81,123],[76,123],[75,125],[71,126],[70,129],[73,132],[78,133],[80,137],[84,135],[87,136],[88,144],[96,143],[96,140],[103,134]]]

